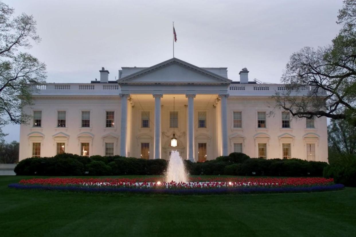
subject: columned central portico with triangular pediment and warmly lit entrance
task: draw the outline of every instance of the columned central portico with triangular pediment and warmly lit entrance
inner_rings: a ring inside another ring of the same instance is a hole
[[[121,155],[167,159],[173,149],[169,144],[173,128],[177,131],[176,149],[185,159],[198,161],[228,154],[227,88],[231,80],[173,58],[117,82],[124,103],[121,106]],[[173,97],[177,111],[171,108]],[[135,104],[131,115],[127,114],[127,98]],[[128,118],[132,119],[131,128],[127,128]],[[148,125],[143,122],[145,119],[149,120]],[[131,137],[126,135],[127,129],[131,130]],[[129,154],[130,139],[134,142]],[[136,154],[138,152],[140,154]]]

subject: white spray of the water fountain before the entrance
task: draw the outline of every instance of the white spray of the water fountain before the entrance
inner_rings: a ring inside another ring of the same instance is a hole
[[[185,170],[182,157],[178,151],[172,151],[169,156],[166,182],[188,182],[188,173]]]

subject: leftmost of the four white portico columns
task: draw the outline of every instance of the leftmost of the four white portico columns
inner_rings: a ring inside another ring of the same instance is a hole
[[[121,130],[120,156],[127,156],[127,98],[130,94],[120,94],[121,97]]]

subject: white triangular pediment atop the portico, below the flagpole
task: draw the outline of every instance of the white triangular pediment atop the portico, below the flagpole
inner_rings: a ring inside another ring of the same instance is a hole
[[[117,80],[119,84],[230,84],[231,80],[172,58]]]

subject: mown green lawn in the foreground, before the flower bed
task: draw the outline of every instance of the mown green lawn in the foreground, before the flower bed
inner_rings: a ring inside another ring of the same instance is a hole
[[[133,195],[16,190],[0,176],[0,236],[356,236],[356,188]]]

